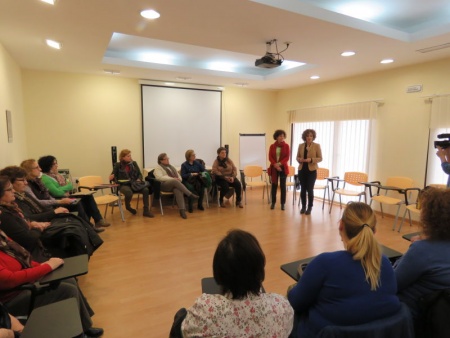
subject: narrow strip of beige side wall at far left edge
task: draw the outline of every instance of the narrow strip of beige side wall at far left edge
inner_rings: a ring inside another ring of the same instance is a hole
[[[8,143],[5,111],[12,114],[13,142]],[[20,164],[27,156],[20,68],[0,44],[0,167]]]

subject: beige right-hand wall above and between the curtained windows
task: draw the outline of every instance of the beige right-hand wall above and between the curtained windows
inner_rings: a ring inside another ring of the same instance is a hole
[[[374,170],[369,178],[385,181],[389,176],[408,176],[421,186],[430,114],[424,96],[450,93],[449,76],[450,59],[446,59],[285,90],[278,94],[277,114],[287,119],[290,109],[383,99],[378,108],[377,151],[372,154]],[[422,84],[423,92],[407,94],[406,87],[415,84]]]

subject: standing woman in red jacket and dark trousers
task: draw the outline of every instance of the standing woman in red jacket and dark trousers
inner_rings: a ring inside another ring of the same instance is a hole
[[[269,175],[272,182],[272,205],[270,209],[275,208],[277,201],[278,178],[280,179],[281,191],[281,210],[284,210],[286,203],[286,177],[289,174],[289,145],[284,142],[286,132],[281,129],[275,130],[273,139],[275,142],[269,148]]]

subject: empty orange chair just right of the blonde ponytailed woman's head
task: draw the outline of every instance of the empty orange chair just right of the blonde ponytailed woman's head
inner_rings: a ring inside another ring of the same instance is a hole
[[[372,183],[378,183],[379,181],[375,181]],[[400,208],[402,205],[408,205],[408,198],[411,199],[412,190],[409,190],[409,188],[412,188],[414,184],[414,181],[412,178],[409,177],[401,177],[401,176],[393,176],[388,177],[386,180],[385,185],[379,185],[377,187],[376,194],[372,194],[372,187],[369,187],[370,192],[370,205],[372,205],[372,202],[378,202],[380,203],[380,209],[381,209],[381,217],[384,218],[384,212],[383,212],[383,204],[386,205],[392,205],[397,206],[397,212],[395,214],[394,224],[392,227],[392,230],[395,230],[395,227],[397,226],[397,220],[398,220],[398,214],[400,212]]]

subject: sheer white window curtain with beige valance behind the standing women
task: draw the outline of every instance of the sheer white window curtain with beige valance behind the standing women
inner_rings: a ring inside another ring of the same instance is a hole
[[[315,142],[320,144],[323,156],[319,166],[328,168],[330,176],[342,178],[347,171],[369,174],[377,107],[376,102],[362,102],[290,111],[292,163],[298,165],[296,158],[298,146],[303,142],[302,132],[314,129]]]

